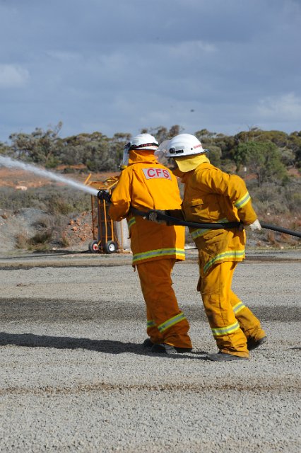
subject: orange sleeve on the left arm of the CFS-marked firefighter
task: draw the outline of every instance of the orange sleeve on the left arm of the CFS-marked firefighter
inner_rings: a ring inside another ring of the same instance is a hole
[[[124,219],[129,213],[131,206],[130,186],[131,173],[125,168],[120,175],[117,186],[113,190],[109,209],[111,219],[117,222]]]

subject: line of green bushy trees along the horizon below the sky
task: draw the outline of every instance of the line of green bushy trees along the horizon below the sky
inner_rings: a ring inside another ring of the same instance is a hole
[[[60,137],[62,123],[47,130],[36,128],[31,134],[13,133],[8,143],[0,142],[0,154],[30,162],[45,168],[64,166],[68,171],[81,164],[86,171],[118,171],[124,144],[131,134],[117,132],[107,137],[101,132],[81,133]],[[158,142],[184,132],[174,125],[143,129],[153,134]],[[278,130],[264,131],[257,127],[235,135],[210,132],[206,129],[194,133],[203,148],[209,149],[213,165],[228,173],[252,173],[259,186],[266,182],[288,182],[288,169],[301,168],[301,131],[287,134]]]

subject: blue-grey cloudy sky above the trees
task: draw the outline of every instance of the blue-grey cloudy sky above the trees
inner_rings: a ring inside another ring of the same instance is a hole
[[[301,130],[301,0],[0,0],[0,141]]]

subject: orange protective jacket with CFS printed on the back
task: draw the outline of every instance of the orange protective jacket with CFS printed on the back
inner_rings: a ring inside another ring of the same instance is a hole
[[[113,220],[126,217],[131,238],[133,265],[174,258],[184,260],[184,227],[167,226],[131,214],[141,211],[180,209],[177,178],[148,151],[130,151],[129,166],[121,173],[112,193],[109,214]]]

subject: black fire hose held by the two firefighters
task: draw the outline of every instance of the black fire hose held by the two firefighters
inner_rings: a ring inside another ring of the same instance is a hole
[[[98,192],[98,198],[105,202],[110,202],[111,195],[107,190],[100,190]],[[189,226],[190,228],[201,228],[201,229],[231,229],[231,228],[243,228],[244,224],[242,222],[225,222],[225,223],[199,223],[199,222],[187,222],[184,219],[177,219],[177,217],[172,217],[168,214],[164,214],[160,210],[149,210],[149,211],[140,211],[135,207],[131,207],[131,212],[134,215],[139,215],[145,219],[149,219],[150,214],[153,212],[156,214],[158,220],[164,220],[169,225],[179,225],[179,226]],[[301,238],[301,231],[293,231],[291,229],[283,228],[282,226],[270,225],[264,222],[260,222],[261,228],[271,229],[272,231],[277,231],[278,233],[290,234],[290,236],[296,236]]]

